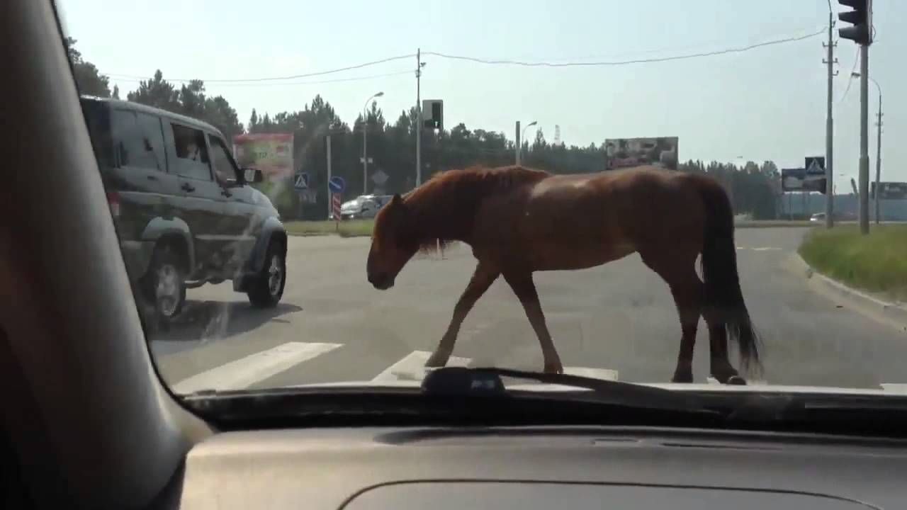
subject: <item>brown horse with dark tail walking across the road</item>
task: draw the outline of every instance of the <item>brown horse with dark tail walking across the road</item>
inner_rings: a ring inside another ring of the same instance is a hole
[[[441,173],[395,195],[375,217],[368,281],[390,289],[419,250],[459,240],[478,260],[473,278],[426,367],[443,367],[463,319],[498,276],[511,286],[541,343],[546,372],[562,372],[532,272],[580,270],[639,252],[668,283],[680,317],[672,380],[693,381],[693,345],[706,319],[711,373],[746,384],[727,358],[736,340],[742,365],[758,366],[757,337],[740,291],[730,201],[714,180],[654,167],[552,175],[520,166]],[[702,254],[703,280],[696,271]]]

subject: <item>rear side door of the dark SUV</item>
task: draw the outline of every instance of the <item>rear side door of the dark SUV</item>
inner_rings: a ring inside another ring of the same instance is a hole
[[[205,134],[198,128],[167,119],[164,134],[171,172],[180,180],[180,217],[189,225],[195,246],[193,277],[216,276],[233,237],[229,202],[214,180]]]

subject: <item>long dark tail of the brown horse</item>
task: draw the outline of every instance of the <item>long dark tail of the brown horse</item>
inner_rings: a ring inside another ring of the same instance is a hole
[[[727,330],[727,338],[740,349],[742,368],[761,368],[757,343],[759,336],[749,318],[740,290],[734,244],[734,211],[725,190],[714,181],[699,189],[705,205],[702,246],[702,276],[705,281],[705,313]]]

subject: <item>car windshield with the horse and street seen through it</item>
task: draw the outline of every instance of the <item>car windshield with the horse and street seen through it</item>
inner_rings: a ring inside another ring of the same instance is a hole
[[[907,4],[58,4],[177,394],[907,383]]]

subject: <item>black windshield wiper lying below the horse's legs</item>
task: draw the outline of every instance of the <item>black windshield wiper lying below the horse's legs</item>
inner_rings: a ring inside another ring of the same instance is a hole
[[[576,387],[580,391],[515,391],[507,389],[502,378],[529,379],[543,384]],[[522,395],[559,400],[569,398],[573,401],[589,401],[625,407],[715,413],[715,411],[707,409],[699,397],[685,392],[608,379],[512,368],[436,368],[425,375],[421,388],[422,393],[427,396],[518,397]]]

